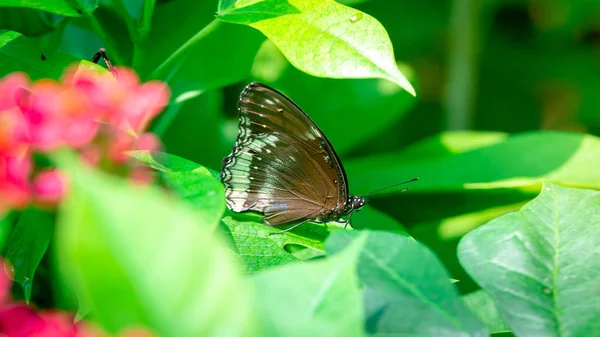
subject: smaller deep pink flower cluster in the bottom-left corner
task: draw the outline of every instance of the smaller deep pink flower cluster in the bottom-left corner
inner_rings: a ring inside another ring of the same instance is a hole
[[[38,312],[32,307],[12,301],[12,284],[0,260],[0,336],[3,337],[107,337],[103,331],[86,321],[75,323],[71,313],[60,311]],[[120,337],[152,337],[146,329],[123,332]]]

